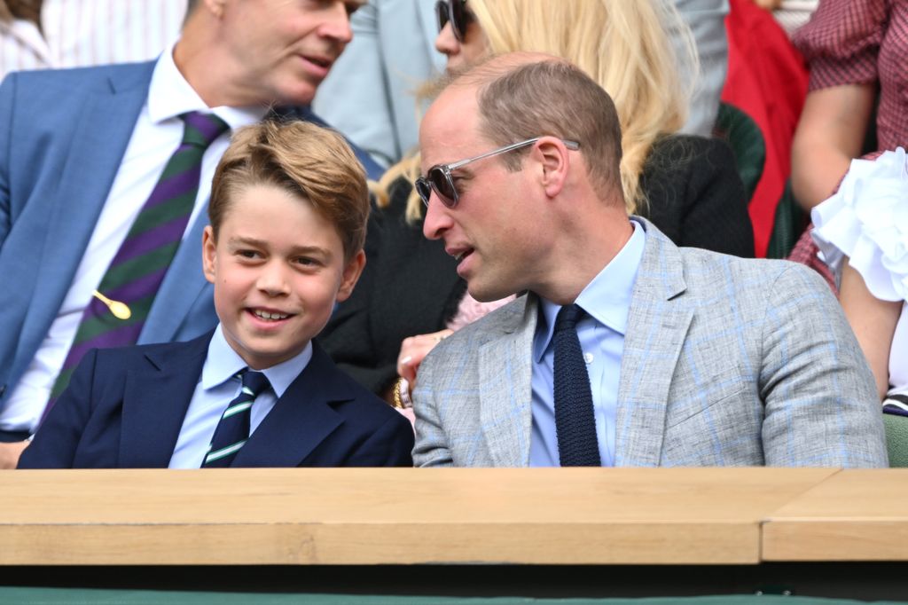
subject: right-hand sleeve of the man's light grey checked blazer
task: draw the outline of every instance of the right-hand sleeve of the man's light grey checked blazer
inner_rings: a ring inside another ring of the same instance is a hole
[[[886,467],[880,402],[854,332],[823,278],[787,264],[762,335],[765,464]]]

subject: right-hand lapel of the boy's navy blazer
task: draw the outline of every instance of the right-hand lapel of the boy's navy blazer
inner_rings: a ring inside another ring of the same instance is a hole
[[[330,403],[353,397],[328,355],[313,342],[309,365],[252,432],[232,466],[300,466],[343,422]]]

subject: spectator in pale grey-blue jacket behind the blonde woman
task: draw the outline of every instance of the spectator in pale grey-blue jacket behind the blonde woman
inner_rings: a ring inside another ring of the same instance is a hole
[[[558,10],[576,13],[580,5],[597,2],[557,0],[541,2],[540,6],[553,9],[558,5]],[[315,98],[318,114],[385,166],[397,163],[416,148],[419,112],[414,94],[419,84],[444,67],[444,58],[433,50],[438,34],[437,4],[432,0],[370,0],[350,19],[353,42]],[[709,136],[725,83],[728,0],[672,0],[668,5],[674,5],[682,17],[681,22],[674,18],[666,21],[681,79],[696,83],[694,103],[680,132]],[[689,60],[691,32],[699,62],[696,56]],[[632,32],[628,30],[627,34]]]

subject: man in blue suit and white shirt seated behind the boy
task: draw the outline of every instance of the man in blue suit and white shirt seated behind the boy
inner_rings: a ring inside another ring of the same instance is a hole
[[[12,74],[0,86],[0,466],[35,431],[85,309],[178,147],[180,115],[231,130],[308,104],[350,42],[360,0],[301,6],[207,0],[151,64]],[[198,259],[209,184],[229,133],[204,152],[194,210],[137,342],[217,323]],[[380,169],[363,154],[370,177]]]

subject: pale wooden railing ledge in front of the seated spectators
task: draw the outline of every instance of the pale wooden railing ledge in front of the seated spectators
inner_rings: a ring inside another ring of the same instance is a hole
[[[908,560],[908,470],[2,471],[3,565]]]

